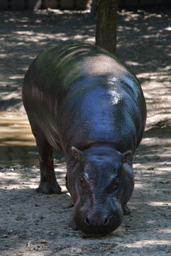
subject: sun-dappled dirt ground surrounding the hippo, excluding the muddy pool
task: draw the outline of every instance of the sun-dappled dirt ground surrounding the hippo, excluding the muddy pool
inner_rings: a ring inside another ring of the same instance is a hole
[[[38,166],[0,168],[0,255],[171,255],[171,10],[118,13],[117,55],[136,73],[148,106],[144,139],[134,159],[131,215],[114,233],[87,238],[68,227],[67,193],[35,192]],[[33,58],[59,41],[94,43],[89,14],[0,13],[0,110],[23,110],[21,84]],[[65,164],[55,163],[65,188]]]

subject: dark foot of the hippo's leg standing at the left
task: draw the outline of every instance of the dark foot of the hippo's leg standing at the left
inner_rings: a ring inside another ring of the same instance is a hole
[[[38,188],[35,191],[39,193],[62,193],[60,186],[57,182],[48,183],[48,182],[40,182]]]

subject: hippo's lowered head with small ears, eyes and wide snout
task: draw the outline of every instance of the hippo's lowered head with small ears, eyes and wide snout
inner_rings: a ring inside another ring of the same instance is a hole
[[[72,147],[72,154],[76,164],[67,174],[67,188],[75,203],[74,223],[86,234],[111,233],[133,192],[132,152],[96,145],[84,151]]]

